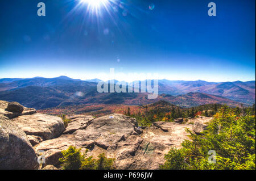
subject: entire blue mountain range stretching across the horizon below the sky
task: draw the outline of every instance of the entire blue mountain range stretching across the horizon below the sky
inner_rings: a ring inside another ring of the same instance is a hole
[[[99,79],[82,81],[57,78],[0,79],[0,99],[17,101],[26,107],[44,109],[77,104],[144,105],[166,100],[181,107],[202,104],[239,106],[255,103],[255,81],[206,82],[159,80],[159,96],[147,99],[148,93],[98,93]],[[117,81],[115,81],[117,82]]]

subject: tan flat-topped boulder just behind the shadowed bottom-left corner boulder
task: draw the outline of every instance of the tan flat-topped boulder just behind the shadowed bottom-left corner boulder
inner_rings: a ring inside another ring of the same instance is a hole
[[[60,117],[41,113],[19,116],[12,121],[27,135],[40,137],[43,141],[59,137],[65,130]]]

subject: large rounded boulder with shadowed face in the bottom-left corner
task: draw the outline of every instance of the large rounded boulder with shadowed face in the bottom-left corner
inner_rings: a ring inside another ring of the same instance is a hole
[[[38,169],[37,156],[26,134],[0,115],[0,169]]]

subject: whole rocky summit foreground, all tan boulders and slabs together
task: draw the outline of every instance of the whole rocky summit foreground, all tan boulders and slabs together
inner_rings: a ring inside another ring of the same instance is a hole
[[[105,153],[115,158],[117,169],[159,169],[171,146],[180,148],[181,142],[189,139],[186,128],[200,134],[211,119],[158,121],[147,128],[117,113],[98,118],[73,115],[67,117],[70,121],[65,128],[60,117],[26,107],[14,114],[8,111],[8,105],[0,101],[0,169],[39,169],[37,159],[43,154],[43,169],[55,170],[60,167],[61,151],[71,145],[82,151],[88,149],[87,155],[93,157]]]

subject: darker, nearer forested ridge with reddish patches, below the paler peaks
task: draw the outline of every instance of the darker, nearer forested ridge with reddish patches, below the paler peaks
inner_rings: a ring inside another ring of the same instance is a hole
[[[93,86],[28,86],[16,90],[1,91],[0,99],[18,101],[24,106],[36,109],[64,107],[77,104],[126,104],[145,105],[166,100],[181,107],[192,107],[203,104],[228,104],[240,106],[240,103],[221,96],[203,93],[188,93],[179,96],[162,94],[156,99],[147,99],[147,93],[98,93]]]

